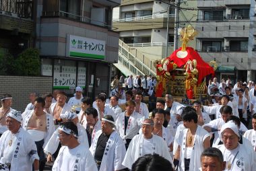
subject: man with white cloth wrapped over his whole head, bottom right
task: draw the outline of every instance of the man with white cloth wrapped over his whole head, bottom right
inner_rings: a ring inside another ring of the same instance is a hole
[[[218,145],[217,148],[224,156],[225,170],[255,170],[255,152],[238,143],[240,137],[238,127],[234,123],[225,123],[220,130],[220,135],[224,144]]]

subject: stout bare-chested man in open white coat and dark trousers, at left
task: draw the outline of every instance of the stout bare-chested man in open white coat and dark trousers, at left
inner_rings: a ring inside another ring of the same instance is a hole
[[[44,112],[44,105],[45,102],[43,98],[36,98],[34,101],[34,109],[27,110],[22,114],[22,126],[36,143],[38,156],[40,157],[40,171],[44,170],[45,165],[44,147],[55,131],[53,116]]]

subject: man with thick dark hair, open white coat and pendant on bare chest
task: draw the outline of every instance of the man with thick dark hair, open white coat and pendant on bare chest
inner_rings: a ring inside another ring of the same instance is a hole
[[[174,166],[179,166],[179,170],[199,171],[201,153],[210,147],[210,134],[197,125],[195,110],[183,112],[181,116],[186,129],[179,137],[179,146],[174,156]]]

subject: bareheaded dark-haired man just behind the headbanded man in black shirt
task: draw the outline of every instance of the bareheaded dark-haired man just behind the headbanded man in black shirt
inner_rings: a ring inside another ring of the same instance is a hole
[[[114,120],[117,120],[117,116],[115,115],[115,112],[108,106],[105,105],[106,103],[106,94],[99,94],[96,96],[96,106],[98,110],[98,116],[101,120],[101,118],[105,115],[111,115],[113,116]]]

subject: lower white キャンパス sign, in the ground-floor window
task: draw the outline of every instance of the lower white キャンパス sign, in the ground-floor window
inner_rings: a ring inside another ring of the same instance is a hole
[[[53,88],[55,89],[75,89],[76,67],[55,65],[53,78]]]

